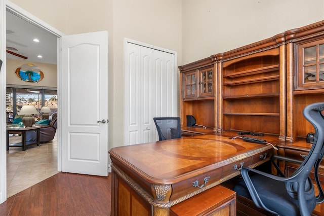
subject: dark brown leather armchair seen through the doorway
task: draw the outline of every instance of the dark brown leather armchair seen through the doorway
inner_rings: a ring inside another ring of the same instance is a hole
[[[56,129],[57,129],[57,114],[51,114],[49,125],[38,125],[41,126],[39,129],[39,142],[45,143],[54,139]],[[26,141],[36,141],[36,132],[27,131],[26,132]]]

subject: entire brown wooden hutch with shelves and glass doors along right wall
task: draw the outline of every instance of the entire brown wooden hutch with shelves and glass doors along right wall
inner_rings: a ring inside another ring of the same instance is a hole
[[[298,160],[307,155],[311,143],[306,136],[314,129],[302,111],[310,103],[324,101],[324,21],[179,66],[179,70],[180,117],[186,134],[203,131],[187,127],[186,116],[192,115],[197,124],[207,127],[206,132],[264,133],[277,137],[275,154]],[[291,174],[298,164],[280,167]],[[324,166],[320,169],[324,186]],[[317,205],[313,214],[324,215],[324,204]]]

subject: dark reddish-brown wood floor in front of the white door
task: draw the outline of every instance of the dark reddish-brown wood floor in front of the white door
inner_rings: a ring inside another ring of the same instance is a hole
[[[110,215],[111,175],[59,172],[0,204],[0,215]]]

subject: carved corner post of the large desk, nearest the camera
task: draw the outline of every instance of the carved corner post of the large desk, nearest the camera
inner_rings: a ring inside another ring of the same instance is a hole
[[[171,185],[152,185],[151,192],[156,201],[153,204],[153,216],[169,216]]]

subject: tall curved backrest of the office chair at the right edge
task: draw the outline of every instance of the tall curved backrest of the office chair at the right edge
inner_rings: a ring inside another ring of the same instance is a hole
[[[290,176],[293,181],[286,184],[288,193],[292,197],[297,197],[298,185],[301,183],[302,185],[306,184],[304,186],[305,189],[307,188],[307,181],[305,179],[309,178],[309,173],[314,168],[314,178],[319,191],[319,194],[316,196],[316,203],[321,203],[324,200],[324,193],[318,177],[318,168],[324,155],[324,116],[322,111],[324,111],[324,102],[312,103],[306,106],[303,111],[305,119],[315,129],[314,143],[302,164]],[[302,208],[303,206],[299,207]]]

